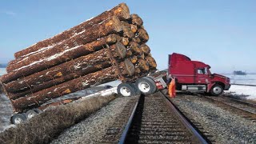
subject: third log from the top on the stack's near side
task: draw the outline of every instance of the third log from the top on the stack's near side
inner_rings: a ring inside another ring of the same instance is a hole
[[[96,50],[102,49],[102,46],[106,43],[116,42],[116,39],[123,40],[125,38],[120,38],[116,34],[111,34],[106,38],[101,38],[98,41],[87,43],[84,46],[78,46],[75,51],[67,51],[65,54],[60,55],[58,58],[50,59],[45,62],[38,62],[34,65],[27,66],[26,69],[17,70],[14,72],[10,72],[8,74],[4,74],[1,77],[2,82],[7,83],[16,80],[17,78],[26,77],[30,74],[34,74],[38,71],[46,70],[47,68],[57,66],[62,62],[66,62],[71,58],[77,58],[80,55],[90,54]]]

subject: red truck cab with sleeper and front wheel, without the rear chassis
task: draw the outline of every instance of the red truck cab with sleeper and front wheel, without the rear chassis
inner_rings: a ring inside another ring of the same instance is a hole
[[[192,61],[186,55],[169,55],[168,72],[176,78],[177,90],[207,92],[218,96],[230,89],[230,78],[211,74],[210,66],[204,62]]]

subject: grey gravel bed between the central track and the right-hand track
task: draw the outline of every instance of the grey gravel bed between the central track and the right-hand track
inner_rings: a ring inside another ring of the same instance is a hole
[[[213,143],[254,143],[256,123],[196,96],[178,96],[172,102]]]

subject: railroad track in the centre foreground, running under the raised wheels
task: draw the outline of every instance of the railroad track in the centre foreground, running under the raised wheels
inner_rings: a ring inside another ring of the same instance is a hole
[[[161,92],[142,95],[119,143],[207,143]]]

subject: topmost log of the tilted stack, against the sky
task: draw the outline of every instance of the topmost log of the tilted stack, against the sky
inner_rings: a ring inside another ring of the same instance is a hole
[[[55,43],[62,42],[66,38],[70,38],[75,34],[82,32],[82,30],[85,30],[86,28],[93,26],[94,24],[98,24],[99,22],[102,22],[114,15],[117,16],[120,20],[126,20],[127,18],[130,18],[130,11],[128,6],[126,6],[125,3],[121,3],[111,10],[107,10],[94,18],[90,18],[86,22],[82,22],[78,26],[74,26],[70,30],[66,30],[52,38],[48,38],[46,40],[38,42],[35,45],[26,48],[25,50],[21,50],[15,53],[14,56],[15,58],[27,57],[31,53],[36,52],[37,50],[42,50],[44,47],[53,46]]]

